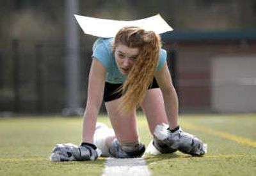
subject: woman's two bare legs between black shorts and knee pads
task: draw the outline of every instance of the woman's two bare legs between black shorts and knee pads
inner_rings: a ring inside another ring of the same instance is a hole
[[[138,141],[138,127],[136,124],[136,111],[122,115],[118,112],[120,98],[109,101],[106,104],[108,115],[119,142]],[[152,135],[157,124],[168,124],[166,112],[164,110],[163,95],[160,89],[149,89],[141,103],[141,108],[145,113],[148,126]],[[110,142],[113,140],[113,136]]]

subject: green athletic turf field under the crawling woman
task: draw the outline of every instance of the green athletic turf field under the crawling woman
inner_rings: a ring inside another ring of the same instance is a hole
[[[104,116],[100,116],[99,121],[109,125],[109,119]],[[180,115],[179,122],[184,131],[208,144],[208,153],[204,157],[180,152],[146,154],[144,159],[152,175],[256,175],[255,114]],[[143,115],[138,117],[138,125],[140,140],[147,145],[150,133]],[[56,143],[81,142],[81,128],[81,117],[0,118],[0,175],[104,174],[105,158],[84,162],[49,161]],[[134,175],[143,173],[134,172]]]

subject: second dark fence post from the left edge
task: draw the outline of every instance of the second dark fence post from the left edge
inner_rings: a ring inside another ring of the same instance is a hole
[[[44,111],[44,62],[42,57],[42,45],[35,45],[36,52],[36,111],[42,113]]]

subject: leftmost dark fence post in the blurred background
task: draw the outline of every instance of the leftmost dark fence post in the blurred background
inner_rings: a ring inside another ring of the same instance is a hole
[[[19,41],[12,40],[13,51],[13,91],[14,91],[14,112],[20,112],[20,61],[19,61]]]

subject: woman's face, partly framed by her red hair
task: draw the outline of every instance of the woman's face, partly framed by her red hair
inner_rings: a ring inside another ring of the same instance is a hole
[[[138,57],[139,48],[129,48],[122,43],[116,45],[115,48],[115,61],[119,71],[123,75],[128,75],[134,61]]]

